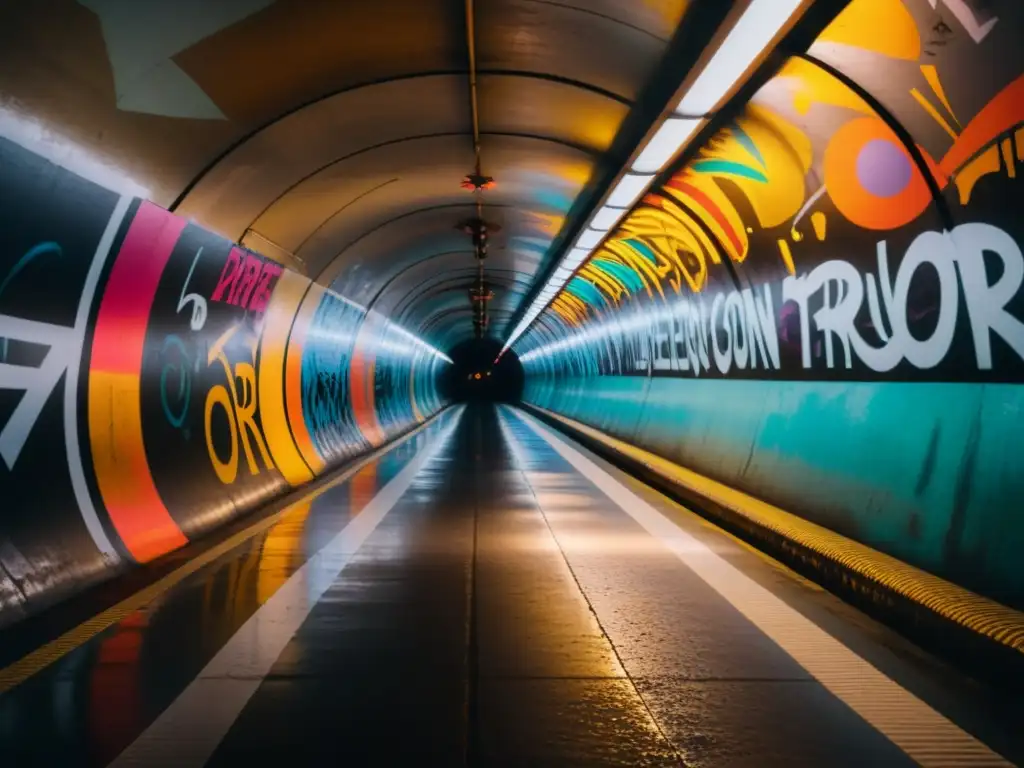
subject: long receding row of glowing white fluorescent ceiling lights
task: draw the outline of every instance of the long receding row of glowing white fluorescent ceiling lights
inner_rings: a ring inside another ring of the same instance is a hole
[[[729,16],[719,32],[720,38],[725,35],[722,42],[694,68],[673,112],[634,151],[628,170],[620,173],[603,205],[591,215],[572,247],[562,256],[506,340],[501,354],[526,332],[577,269],[636,206],[655,177],[680,156],[715,112],[749,79],[809,5],[809,0],[751,0]]]

